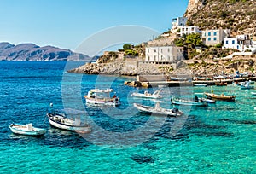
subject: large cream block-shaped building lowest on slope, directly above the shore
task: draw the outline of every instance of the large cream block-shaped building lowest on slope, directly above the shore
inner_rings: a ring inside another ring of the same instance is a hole
[[[145,61],[154,63],[177,63],[184,59],[183,47],[160,46],[146,47]]]

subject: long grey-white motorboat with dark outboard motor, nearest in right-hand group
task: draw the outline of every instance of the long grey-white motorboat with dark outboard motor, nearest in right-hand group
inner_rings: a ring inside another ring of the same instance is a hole
[[[154,107],[149,107],[137,103],[133,103],[133,106],[136,107],[141,113],[148,113],[148,114],[156,114],[156,115],[169,115],[169,116],[181,116],[183,112],[179,111],[177,108],[166,109],[160,107],[160,103],[156,102]]]

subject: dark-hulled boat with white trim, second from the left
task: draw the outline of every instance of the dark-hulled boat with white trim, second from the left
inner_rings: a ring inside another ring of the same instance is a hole
[[[80,131],[80,132],[90,132],[90,125],[81,123],[80,114],[84,112],[73,110],[73,109],[61,109],[55,110],[52,113],[46,113],[49,120],[49,124],[67,131]],[[75,118],[68,119],[67,114],[72,114]]]

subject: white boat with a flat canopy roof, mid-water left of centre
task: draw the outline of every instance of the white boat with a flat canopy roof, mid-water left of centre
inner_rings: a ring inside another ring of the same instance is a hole
[[[119,97],[113,95],[110,97],[110,93],[113,92],[112,89],[99,90],[93,89],[88,91],[87,96],[84,96],[85,101],[90,104],[99,105],[110,105],[118,106],[121,104]]]

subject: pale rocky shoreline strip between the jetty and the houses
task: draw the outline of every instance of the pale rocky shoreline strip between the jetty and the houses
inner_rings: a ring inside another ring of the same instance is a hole
[[[236,57],[232,60],[184,60],[183,65],[171,70],[171,65],[148,64],[143,67],[127,66],[125,61],[112,61],[108,63],[86,63],[81,67],[69,70],[68,73],[109,74],[109,75],[160,75],[160,74],[188,74],[214,75],[221,73],[256,72],[256,57]]]

